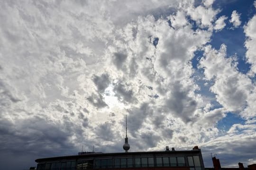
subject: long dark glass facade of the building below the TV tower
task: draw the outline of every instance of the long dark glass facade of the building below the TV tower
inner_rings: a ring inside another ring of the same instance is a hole
[[[187,160],[187,161],[185,161]],[[133,167],[184,167],[190,170],[202,170],[200,157],[173,156],[173,157],[141,157],[94,159],[78,161],[62,161],[51,163],[38,163],[37,170],[84,170],[84,169],[119,169]]]

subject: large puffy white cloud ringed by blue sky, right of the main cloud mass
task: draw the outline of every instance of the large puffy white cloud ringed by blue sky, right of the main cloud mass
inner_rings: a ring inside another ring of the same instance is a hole
[[[204,58],[200,60],[200,67],[204,75],[214,84],[210,90],[216,94],[217,101],[228,111],[237,112],[243,117],[253,117],[253,113],[243,113],[247,102],[251,100],[254,85],[246,75],[239,73],[236,62],[227,58],[227,47],[222,44],[219,51],[211,46],[205,47]]]

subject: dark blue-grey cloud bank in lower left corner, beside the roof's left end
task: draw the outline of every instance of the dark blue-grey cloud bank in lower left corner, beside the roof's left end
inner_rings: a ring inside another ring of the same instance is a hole
[[[71,132],[61,124],[33,117],[15,124],[8,119],[0,119],[0,164],[5,170],[28,169],[36,166],[37,158],[76,154],[76,149],[68,141]],[[12,159],[6,159],[7,156]],[[13,163],[13,160],[16,163]],[[27,167],[25,167],[27,166]]]

